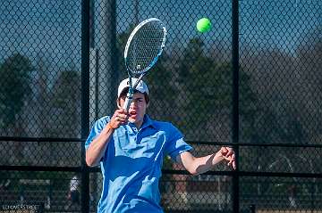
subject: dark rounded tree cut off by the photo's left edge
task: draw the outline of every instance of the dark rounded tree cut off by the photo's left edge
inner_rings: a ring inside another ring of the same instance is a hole
[[[9,127],[21,112],[24,100],[31,94],[30,72],[34,70],[30,60],[15,53],[0,66],[0,124]]]

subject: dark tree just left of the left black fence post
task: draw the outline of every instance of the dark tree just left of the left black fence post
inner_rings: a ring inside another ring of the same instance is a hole
[[[80,71],[62,70],[50,91],[47,102],[50,114],[46,120],[46,135],[50,137],[80,137]],[[45,127],[44,127],[45,128]],[[76,165],[79,157],[71,143],[47,143],[48,160],[52,165]]]

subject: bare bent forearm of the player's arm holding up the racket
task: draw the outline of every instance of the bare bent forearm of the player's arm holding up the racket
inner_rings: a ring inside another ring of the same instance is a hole
[[[86,163],[89,167],[95,167],[102,159],[107,143],[110,141],[114,132],[114,128],[109,125],[102,130],[102,132],[95,138],[92,143],[89,144],[89,148],[86,151]]]

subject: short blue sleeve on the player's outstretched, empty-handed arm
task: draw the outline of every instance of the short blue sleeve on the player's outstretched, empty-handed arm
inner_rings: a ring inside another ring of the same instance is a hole
[[[169,137],[169,140],[165,146],[165,154],[170,155],[173,160],[182,152],[192,150],[191,145],[183,140],[182,133],[173,125],[169,127],[167,136]]]

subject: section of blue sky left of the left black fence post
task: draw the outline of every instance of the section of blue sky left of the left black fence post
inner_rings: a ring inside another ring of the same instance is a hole
[[[1,61],[12,53],[22,53],[34,59],[39,54],[69,58],[68,63],[80,53],[78,1],[4,0],[0,18]]]

